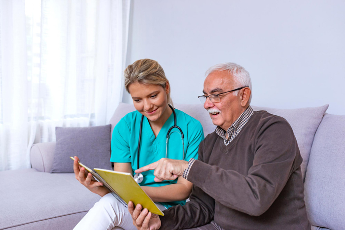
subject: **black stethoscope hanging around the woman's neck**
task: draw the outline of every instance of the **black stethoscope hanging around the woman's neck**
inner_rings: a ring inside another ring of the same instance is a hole
[[[169,107],[173,110],[173,106],[171,106],[169,104]],[[141,141],[141,130],[142,130],[142,121],[143,120],[144,120],[144,115],[141,115],[140,130],[139,130],[139,141],[138,141],[138,161],[137,161],[137,166],[138,167],[137,168],[139,168],[140,141]],[[167,156],[168,156],[168,139],[169,139],[169,136],[171,134],[170,132],[172,131],[173,128],[177,128],[180,131],[179,134],[180,134],[181,139],[182,139],[182,160],[184,160],[184,142],[183,142],[184,135],[183,135],[183,132],[182,132],[181,128],[179,128],[176,125],[176,114],[175,114],[174,110],[173,110],[173,126],[170,127],[170,129],[169,129],[169,131],[167,133],[167,146],[166,146],[166,150],[165,150],[165,158],[167,158]],[[177,131],[173,131],[173,132],[177,132]],[[143,179],[144,179],[144,176],[141,173],[137,173],[137,174],[134,175],[134,179],[137,181],[137,183],[141,183],[143,181]]]

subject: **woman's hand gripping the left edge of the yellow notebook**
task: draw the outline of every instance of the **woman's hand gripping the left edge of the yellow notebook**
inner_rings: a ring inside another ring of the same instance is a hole
[[[96,181],[92,174],[89,172],[87,175],[85,175],[85,168],[81,167],[78,164],[79,158],[74,157],[74,163],[73,163],[73,170],[75,174],[75,179],[77,179],[82,185],[84,185],[88,190],[91,192],[100,195],[103,197],[105,194],[109,193],[109,191],[103,187],[103,184],[101,182]]]

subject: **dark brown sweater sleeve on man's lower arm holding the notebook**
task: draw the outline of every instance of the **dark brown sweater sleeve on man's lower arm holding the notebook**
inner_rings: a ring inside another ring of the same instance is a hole
[[[199,145],[200,162],[203,161],[203,144]],[[213,219],[214,199],[207,195],[201,188],[193,185],[190,201],[185,205],[176,205],[164,211],[160,216],[160,230],[190,229],[203,226]]]

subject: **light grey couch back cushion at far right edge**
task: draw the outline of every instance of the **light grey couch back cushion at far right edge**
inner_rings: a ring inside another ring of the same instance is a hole
[[[345,228],[345,116],[326,114],[316,131],[305,200],[312,225]]]

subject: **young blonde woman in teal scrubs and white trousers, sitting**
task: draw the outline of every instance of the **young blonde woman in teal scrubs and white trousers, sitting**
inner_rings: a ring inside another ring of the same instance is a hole
[[[114,128],[110,158],[114,162],[114,170],[134,173],[138,169],[139,136],[139,167],[165,157],[185,161],[197,159],[199,144],[204,139],[203,128],[199,121],[180,110],[174,109],[174,112],[176,125],[184,134],[184,144],[179,129],[173,128],[166,147],[167,133],[174,125],[174,114],[170,85],[163,68],[156,61],[142,59],[129,65],[124,75],[126,90],[131,94],[137,111],[127,114]],[[135,230],[128,209],[100,182],[91,180],[91,173],[85,177],[85,169],[78,166],[77,160],[73,165],[77,180],[102,198],[74,229]],[[153,170],[143,173],[139,185],[161,210],[183,205],[192,190],[192,184],[182,177],[155,182]]]

